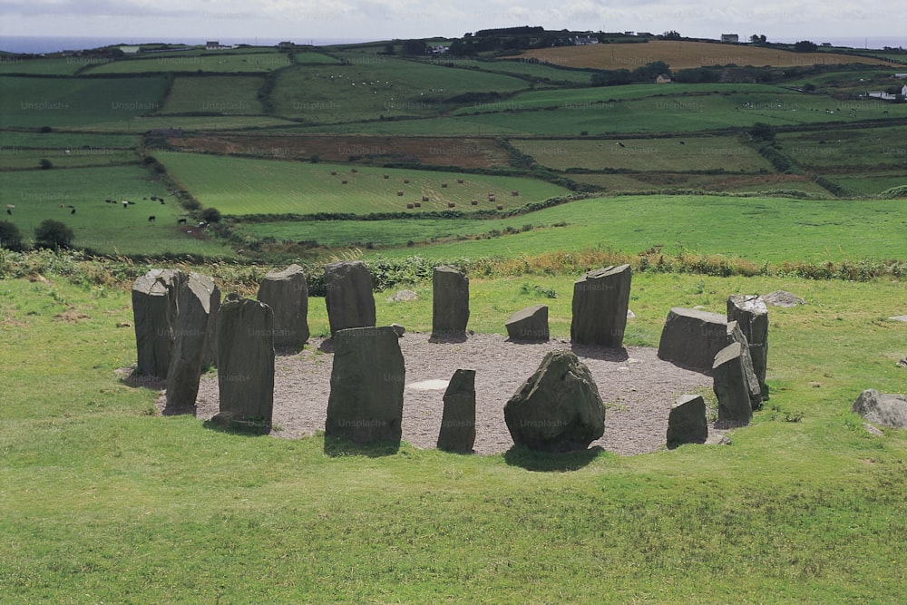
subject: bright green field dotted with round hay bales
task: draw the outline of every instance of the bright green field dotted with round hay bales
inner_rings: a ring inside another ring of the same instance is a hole
[[[451,202],[457,209],[468,211],[473,209],[473,199],[481,200],[480,208],[487,209],[488,193],[494,193],[495,203],[505,208],[568,193],[556,185],[522,177],[351,168],[176,152],[156,153],[155,157],[181,187],[204,206],[215,207],[224,214],[399,212],[406,211],[406,204],[414,201],[422,204],[419,210],[423,211],[447,210]],[[332,175],[332,171],[336,174]],[[344,179],[346,184],[341,182]],[[405,179],[410,182],[405,183]],[[458,183],[458,179],[463,179],[463,183]],[[512,190],[519,195],[512,196]],[[403,191],[403,195],[398,196],[397,191]],[[422,196],[429,200],[423,202]]]

